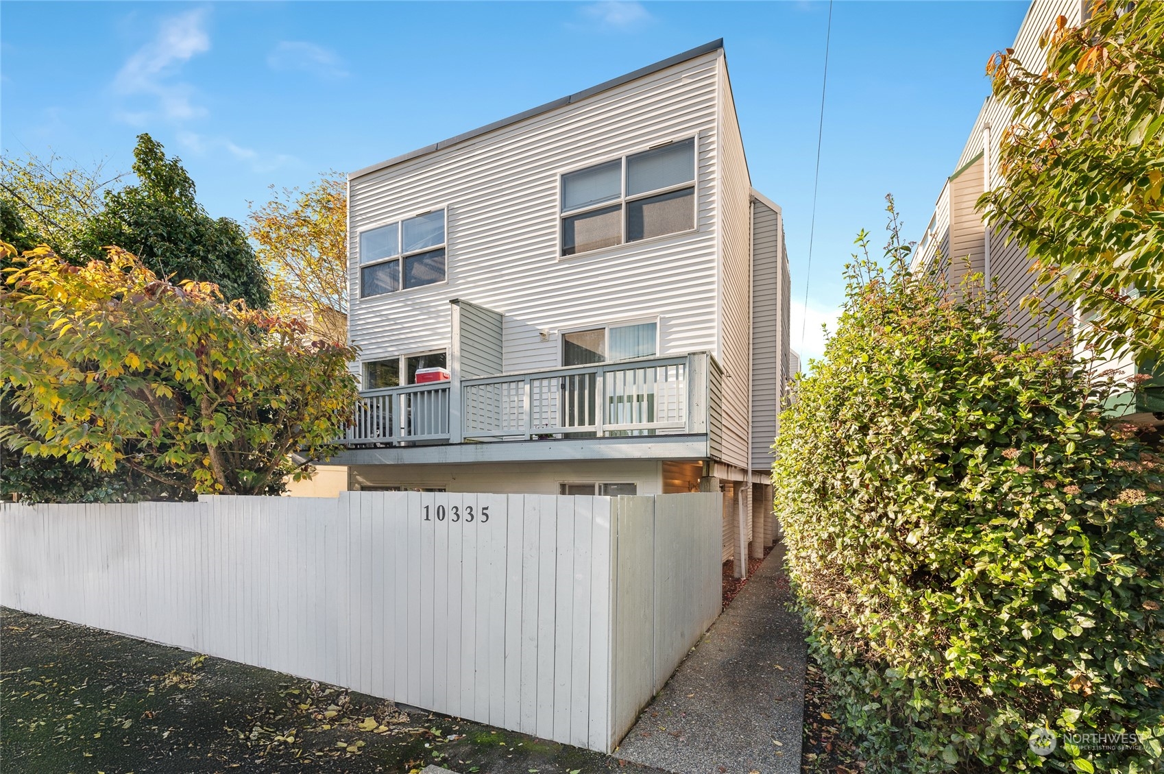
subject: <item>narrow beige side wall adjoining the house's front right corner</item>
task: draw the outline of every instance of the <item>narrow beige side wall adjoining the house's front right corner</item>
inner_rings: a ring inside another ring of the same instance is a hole
[[[719,168],[723,460],[740,468],[751,466],[750,406],[752,392],[752,183],[744,156],[744,141],[736,121],[728,65],[719,59]]]

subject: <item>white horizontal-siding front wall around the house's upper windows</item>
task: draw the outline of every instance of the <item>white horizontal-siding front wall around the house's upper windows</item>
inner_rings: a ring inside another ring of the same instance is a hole
[[[504,315],[506,371],[558,365],[563,331],[631,320],[659,320],[661,355],[718,355],[722,56],[711,51],[352,177],[350,332],[361,358],[448,347],[453,298]],[[561,173],[691,136],[695,232],[559,256]],[[440,207],[447,213],[447,282],[361,299],[360,232]]]

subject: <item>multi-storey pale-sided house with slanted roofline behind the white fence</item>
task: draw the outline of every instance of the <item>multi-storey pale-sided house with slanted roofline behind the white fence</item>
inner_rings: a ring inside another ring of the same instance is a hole
[[[775,539],[780,207],[722,41],[348,176],[353,489],[719,490]],[[746,562],[737,561],[737,574]]]

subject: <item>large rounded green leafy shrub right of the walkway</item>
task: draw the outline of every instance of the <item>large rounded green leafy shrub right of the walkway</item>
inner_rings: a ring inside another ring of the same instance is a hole
[[[1164,464],[1110,385],[1009,340],[980,276],[910,275],[892,230],[888,270],[858,240],[773,474],[838,717],[871,772],[1158,771]]]

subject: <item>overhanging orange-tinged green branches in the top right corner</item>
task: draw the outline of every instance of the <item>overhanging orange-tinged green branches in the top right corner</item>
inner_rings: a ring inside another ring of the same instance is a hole
[[[1066,300],[1028,303],[1085,321],[1099,352],[1164,362],[1164,2],[1093,2],[1039,43],[1036,62],[987,65],[1013,115],[980,204]]]

